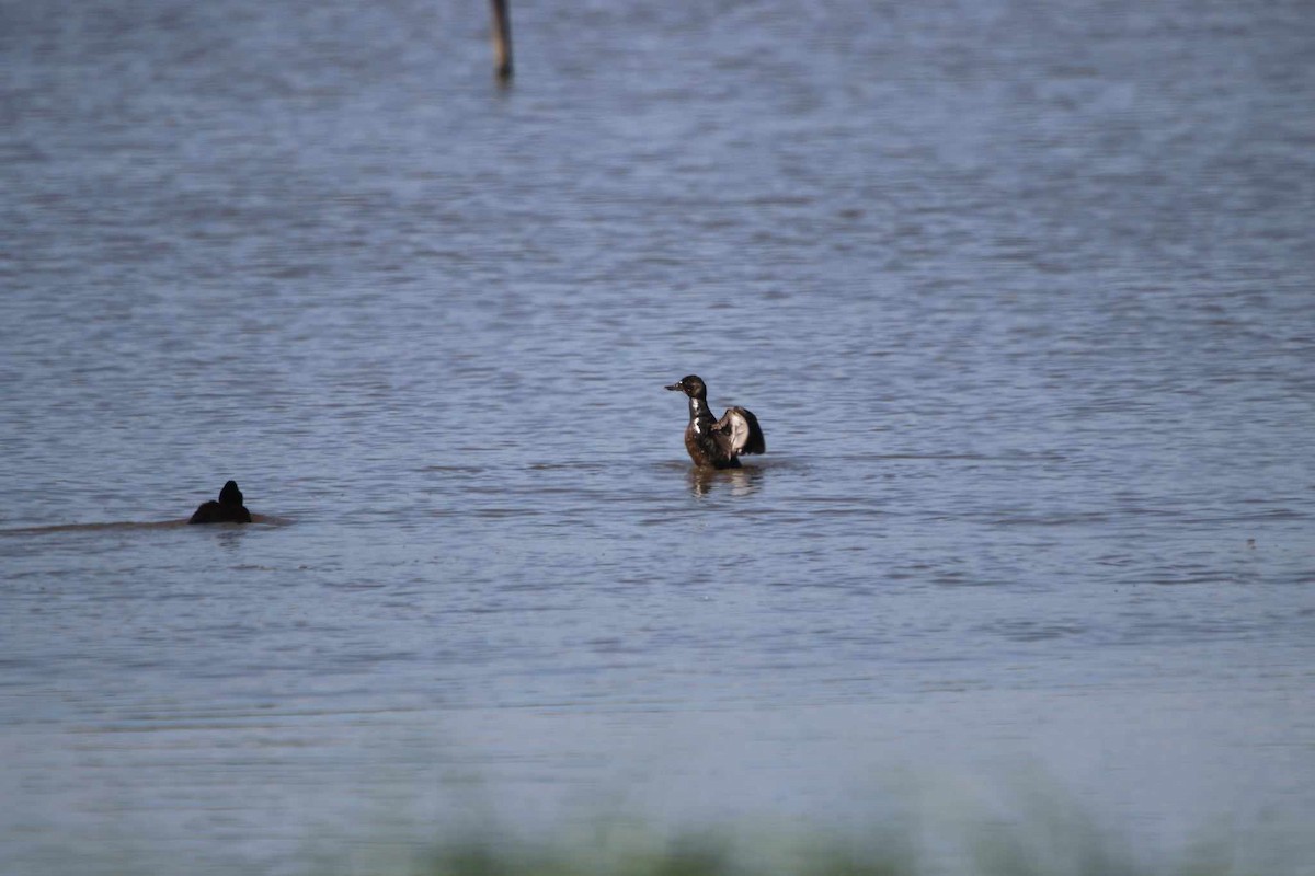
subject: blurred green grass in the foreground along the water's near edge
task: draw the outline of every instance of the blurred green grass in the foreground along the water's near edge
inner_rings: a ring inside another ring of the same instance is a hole
[[[997,789],[999,791],[999,789]],[[558,813],[537,833],[479,806],[439,814],[393,800],[373,818],[339,823],[288,850],[296,876],[1315,876],[1315,841],[1297,821],[1236,831],[1219,822],[1187,842],[1153,822],[1111,827],[1052,787],[1002,791],[992,804],[963,787],[931,797],[873,800],[844,825],[773,816],[675,826],[617,809]],[[483,814],[481,814],[483,812]],[[26,872],[163,876],[226,869],[176,867],[141,838],[72,842],[26,859]],[[1169,843],[1157,847],[1157,841]],[[0,864],[0,871],[5,867]],[[272,871],[270,871],[272,872]],[[8,871],[5,871],[8,873]],[[16,876],[18,873],[16,872]]]

